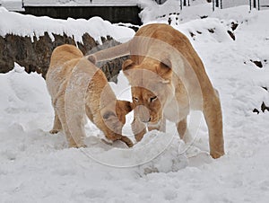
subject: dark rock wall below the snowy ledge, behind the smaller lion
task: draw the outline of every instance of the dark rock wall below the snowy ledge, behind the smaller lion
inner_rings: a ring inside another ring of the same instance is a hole
[[[117,41],[107,38],[102,38],[103,45],[99,45],[88,33],[82,36],[82,42],[74,41],[74,38],[67,35],[57,35],[52,33],[54,41],[45,32],[39,39],[34,37],[22,37],[13,34],[6,34],[4,37],[0,36],[0,73],[7,73],[13,69],[14,62],[20,66],[25,67],[27,73],[37,72],[44,78],[46,77],[49,60],[53,49],[63,44],[77,44],[77,47],[82,50],[85,55],[91,50],[97,51],[106,49],[118,44]],[[96,49],[93,49],[96,48]],[[93,51],[91,51],[93,52]],[[108,63],[100,64],[101,69],[107,75],[108,81],[117,82],[117,74],[121,69],[121,65],[125,58],[117,58]]]

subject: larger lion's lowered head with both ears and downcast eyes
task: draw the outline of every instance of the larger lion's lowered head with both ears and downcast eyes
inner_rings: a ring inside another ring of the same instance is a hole
[[[128,59],[123,71],[131,84],[134,117],[143,123],[157,125],[175,92],[170,66],[152,58],[140,65]]]

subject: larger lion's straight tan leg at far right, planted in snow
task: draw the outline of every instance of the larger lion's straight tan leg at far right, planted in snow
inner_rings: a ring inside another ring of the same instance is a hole
[[[209,131],[210,154],[219,158],[224,154],[224,140],[222,132],[221,102],[217,93],[204,100],[204,118]]]

